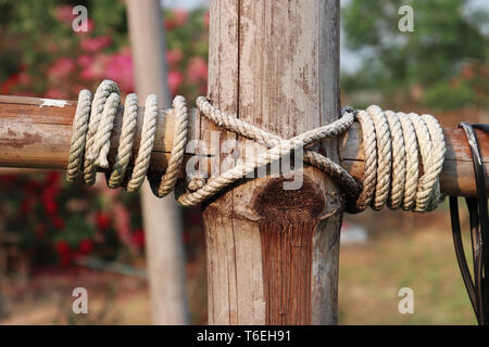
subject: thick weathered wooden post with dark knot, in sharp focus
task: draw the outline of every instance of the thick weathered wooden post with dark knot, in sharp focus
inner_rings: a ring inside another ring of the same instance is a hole
[[[338,117],[339,1],[213,0],[210,25],[209,98],[221,110],[283,138]],[[338,159],[336,139],[317,149]],[[312,167],[299,190],[284,180],[248,180],[204,206],[209,323],[337,323],[342,194]]]

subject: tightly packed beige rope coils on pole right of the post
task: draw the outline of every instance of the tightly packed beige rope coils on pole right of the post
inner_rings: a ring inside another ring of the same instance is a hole
[[[365,209],[371,201],[376,210],[386,203],[391,209],[402,207],[418,213],[435,209],[442,200],[439,175],[446,152],[443,131],[436,118],[383,112],[372,105],[366,112],[360,111],[358,119],[362,126],[365,168],[363,190],[350,211]]]

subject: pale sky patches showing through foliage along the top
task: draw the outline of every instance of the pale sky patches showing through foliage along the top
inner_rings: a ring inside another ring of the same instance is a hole
[[[209,0],[161,0],[165,8],[193,9],[196,7],[209,7]],[[341,0],[341,5],[349,0]],[[409,3],[411,1],[406,1]],[[471,10],[485,9],[489,11],[489,0],[471,0],[468,2]],[[416,16],[416,14],[415,14]],[[340,65],[347,72],[354,72],[362,65],[362,57],[358,52],[353,52],[344,47],[343,35],[340,34]]]

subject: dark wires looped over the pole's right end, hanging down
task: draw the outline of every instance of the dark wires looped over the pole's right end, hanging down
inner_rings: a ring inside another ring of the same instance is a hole
[[[489,284],[487,284],[489,271],[489,217],[486,192],[486,174],[482,156],[479,150],[476,129],[489,132],[489,125],[469,125],[462,121],[459,125],[467,137],[471,146],[474,175],[476,182],[476,197],[466,197],[469,215],[472,256],[474,262],[474,277],[468,269],[467,259],[464,253],[462,233],[459,217],[459,201],[456,196],[450,196],[450,218],[452,221],[453,243],[455,246],[456,259],[462,273],[472,307],[480,325],[489,324]]]

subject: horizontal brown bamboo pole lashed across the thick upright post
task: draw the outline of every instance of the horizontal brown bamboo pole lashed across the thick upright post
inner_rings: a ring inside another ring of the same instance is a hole
[[[72,121],[76,101],[0,95],[0,167],[64,169],[67,165]],[[138,110],[135,152],[139,145],[143,108]],[[110,157],[114,157],[122,127],[121,107],[111,138]],[[200,117],[190,111],[189,139],[199,139]],[[173,146],[173,110],[160,110],[151,169],[165,171]],[[441,191],[447,195],[474,196],[475,180],[471,149],[461,129],[443,129],[447,153],[440,175]],[[476,130],[486,168],[486,191],[489,192],[489,136]],[[363,175],[364,156],[360,127],[355,124],[342,136],[341,165],[355,178]],[[193,152],[187,153],[189,156]],[[209,160],[210,162],[210,160]]]

